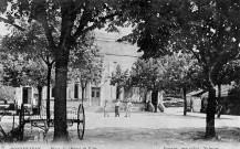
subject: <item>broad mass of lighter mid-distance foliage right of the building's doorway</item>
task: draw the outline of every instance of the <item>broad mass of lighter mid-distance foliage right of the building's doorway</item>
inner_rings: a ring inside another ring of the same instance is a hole
[[[179,93],[204,85],[202,68],[190,54],[175,53],[161,58],[139,58],[131,71],[131,84],[147,89]]]

